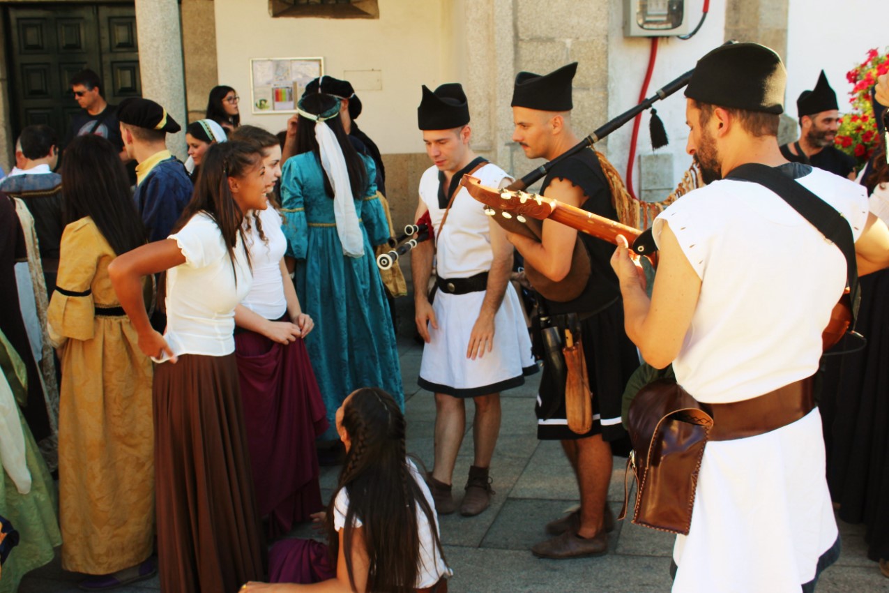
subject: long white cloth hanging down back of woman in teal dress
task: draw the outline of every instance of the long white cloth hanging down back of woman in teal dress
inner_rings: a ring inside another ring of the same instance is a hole
[[[340,236],[342,252],[348,257],[362,257],[364,236],[358,225],[355,196],[352,196],[352,186],[348,180],[346,158],[342,156],[340,143],[330,126],[323,121],[315,123],[315,139],[318,141],[321,166],[324,167],[327,179],[333,187],[333,218],[336,220],[336,232]]]

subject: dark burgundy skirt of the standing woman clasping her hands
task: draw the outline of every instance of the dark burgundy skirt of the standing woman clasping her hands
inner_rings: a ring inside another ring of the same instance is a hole
[[[304,341],[239,331],[235,348],[256,499],[277,537],[324,509],[315,448],[327,429],[324,401]]]

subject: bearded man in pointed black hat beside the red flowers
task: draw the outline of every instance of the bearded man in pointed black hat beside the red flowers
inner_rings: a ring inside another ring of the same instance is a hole
[[[828,77],[818,76],[812,91],[803,91],[797,99],[799,140],[781,146],[781,155],[791,163],[811,164],[841,177],[855,179],[855,159],[834,147],[839,129],[837,93]]]

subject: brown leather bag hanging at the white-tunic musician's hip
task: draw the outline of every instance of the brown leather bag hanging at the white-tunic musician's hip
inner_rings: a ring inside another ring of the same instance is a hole
[[[621,519],[627,515],[632,470],[637,482],[633,523],[688,535],[712,426],[709,414],[672,379],[659,379],[639,390],[629,407],[633,451],[624,477]]]

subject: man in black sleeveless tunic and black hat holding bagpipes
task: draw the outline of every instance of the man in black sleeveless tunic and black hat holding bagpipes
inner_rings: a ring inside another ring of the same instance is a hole
[[[513,140],[529,158],[552,160],[577,144],[571,128],[572,80],[577,63],[546,76],[520,72],[512,99],[516,124]],[[552,167],[541,194],[565,204],[617,220],[612,196],[596,153],[582,150]],[[544,220],[542,241],[509,233],[525,262],[554,281],[565,278],[572,264],[577,231]],[[625,437],[621,427],[621,394],[638,365],[636,349],[623,331],[623,310],[617,276],[609,266],[611,245],[582,235],[589,253],[590,275],[580,296],[567,302],[540,296],[542,317],[574,313],[581,319],[581,343],[593,394],[592,428],[581,434],[569,428],[565,405],[565,375],[544,365],[535,411],[537,437],[562,442],[581,493],[581,509],[547,525],[552,539],[536,544],[536,556],[570,558],[597,556],[608,549],[606,533],[614,517],[606,497],[612,473],[611,442]],[[566,336],[567,337],[567,336]],[[577,340],[578,336],[571,339]]]

